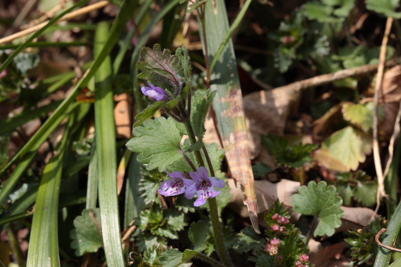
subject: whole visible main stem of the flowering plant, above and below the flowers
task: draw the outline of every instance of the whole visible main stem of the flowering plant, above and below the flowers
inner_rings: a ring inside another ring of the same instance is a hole
[[[188,133],[189,141],[193,145],[196,142],[196,138],[195,138],[195,134],[193,133],[193,129],[192,129],[192,125],[191,125],[190,121],[185,122],[185,128]],[[196,158],[196,161],[199,164],[199,166],[205,167],[205,163],[202,158],[202,154],[200,154],[200,151],[195,149],[194,154],[195,154],[195,158]],[[205,155],[207,155],[207,152],[205,153]],[[208,158],[208,156],[206,156],[206,157]],[[210,168],[210,172],[211,172],[212,176],[214,176],[215,172],[214,172],[213,166],[211,166],[211,164],[209,165],[209,168]],[[210,207],[210,217],[212,220],[213,232],[215,234],[215,239],[216,239],[217,251],[219,252],[220,259],[222,260],[224,266],[230,267],[230,266],[232,266],[232,263],[231,263],[229,255],[227,253],[226,245],[224,244],[223,232],[222,232],[222,228],[221,228],[220,221],[219,221],[219,212],[217,209],[216,198],[208,198],[208,203],[209,203],[209,207]]]

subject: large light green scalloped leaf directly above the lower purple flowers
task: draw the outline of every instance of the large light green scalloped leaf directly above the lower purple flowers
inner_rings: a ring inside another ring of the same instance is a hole
[[[132,131],[134,138],[127,147],[138,153],[137,160],[146,163],[146,169],[158,168],[164,171],[167,166],[183,158],[179,142],[182,133],[175,127],[174,120],[163,117],[147,120]]]

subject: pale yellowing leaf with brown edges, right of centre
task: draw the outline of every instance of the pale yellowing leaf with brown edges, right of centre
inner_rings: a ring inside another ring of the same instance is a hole
[[[372,148],[372,138],[365,133],[347,126],[326,138],[321,145],[330,155],[341,161],[348,170],[356,170],[364,162]]]

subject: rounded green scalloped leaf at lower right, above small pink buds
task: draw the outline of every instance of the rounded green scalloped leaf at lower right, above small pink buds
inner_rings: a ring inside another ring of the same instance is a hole
[[[292,196],[294,211],[304,215],[314,215],[319,218],[314,236],[334,234],[335,228],[341,226],[341,218],[344,211],[340,209],[341,197],[335,195],[336,190],[332,185],[327,186],[321,181],[316,184],[310,181],[308,186],[301,186],[297,194]]]

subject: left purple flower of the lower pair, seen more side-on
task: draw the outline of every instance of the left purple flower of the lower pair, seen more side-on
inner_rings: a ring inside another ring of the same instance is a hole
[[[194,183],[191,179],[184,178],[184,174],[179,171],[167,172],[167,174],[172,178],[161,183],[159,193],[162,195],[173,196],[182,194],[186,187]]]

